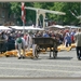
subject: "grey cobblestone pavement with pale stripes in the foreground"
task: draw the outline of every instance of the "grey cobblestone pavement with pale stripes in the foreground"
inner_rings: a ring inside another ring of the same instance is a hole
[[[75,50],[58,52],[56,59],[49,53],[35,59],[0,57],[0,78],[81,78],[81,60]]]

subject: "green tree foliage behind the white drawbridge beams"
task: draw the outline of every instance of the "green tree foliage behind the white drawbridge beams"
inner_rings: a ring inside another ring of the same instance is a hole
[[[22,3],[21,2],[10,2],[11,4],[11,12],[16,13],[17,16],[21,19],[22,16]],[[77,16],[81,14],[81,3],[80,2],[25,2],[26,6],[31,8],[40,8],[40,9],[46,9],[52,11],[59,11],[65,12],[66,15],[56,15],[56,14],[46,14],[46,17],[50,19],[54,19],[56,22],[63,22],[66,24],[71,23],[78,23],[79,19],[77,19],[69,10],[71,10]],[[77,13],[75,12],[77,11]],[[36,23],[36,12],[31,10],[26,10],[26,21],[29,19],[32,21],[32,23]]]

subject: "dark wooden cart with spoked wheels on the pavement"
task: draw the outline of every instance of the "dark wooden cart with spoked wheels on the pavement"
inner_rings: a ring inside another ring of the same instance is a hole
[[[57,57],[57,46],[58,46],[58,40],[54,38],[43,38],[43,37],[38,37],[38,38],[32,38],[32,43],[37,44],[35,49],[35,56],[38,58],[38,54],[40,53],[41,49],[45,49],[48,51],[48,48],[50,49],[50,57],[51,53],[53,52],[53,57]]]

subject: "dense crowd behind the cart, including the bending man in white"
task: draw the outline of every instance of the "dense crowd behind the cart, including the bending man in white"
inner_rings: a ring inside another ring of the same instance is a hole
[[[19,30],[1,30],[0,31],[0,39],[4,40],[4,43],[0,43],[0,46],[4,45],[3,50],[11,51],[11,50],[19,50],[18,51],[18,58],[25,58],[25,49],[29,51],[32,48],[32,38],[35,37],[53,37],[56,38],[60,44],[65,44],[65,46],[71,45],[75,43],[75,35],[78,29],[58,29],[58,30],[43,30],[43,31],[36,31],[36,32],[28,32]],[[24,50],[23,56],[21,55],[21,49]]]

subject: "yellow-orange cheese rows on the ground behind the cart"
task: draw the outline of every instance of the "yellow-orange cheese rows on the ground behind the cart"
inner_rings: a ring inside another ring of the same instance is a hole
[[[59,51],[70,51],[72,48],[76,48],[76,43],[72,43],[71,44],[71,46],[68,46],[68,48],[66,48],[64,44],[60,44],[59,46],[57,46],[57,51],[59,52]],[[52,50],[53,50],[53,48],[52,48]],[[40,50],[41,52],[42,52],[42,54],[45,54],[45,50],[43,49],[43,50]],[[48,51],[50,51],[50,48],[48,48]],[[17,56],[17,53],[18,53],[18,51],[17,50],[12,50],[12,51],[6,51],[5,53],[2,53],[2,54],[0,54],[0,57],[2,57],[2,56]],[[23,54],[23,50],[21,50],[21,53]],[[25,51],[25,55],[27,56],[27,57],[33,57],[33,54],[32,54],[32,49],[30,49],[29,51],[28,50],[26,50]]]

